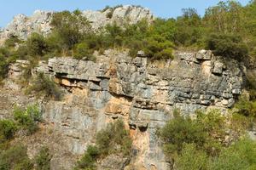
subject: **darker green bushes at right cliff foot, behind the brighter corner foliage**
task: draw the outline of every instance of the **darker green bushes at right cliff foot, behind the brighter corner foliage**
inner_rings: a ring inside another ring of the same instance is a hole
[[[164,143],[167,156],[175,159],[184,144],[195,144],[198,150],[204,150],[208,156],[218,156],[221,148],[229,144],[225,141],[227,130],[234,134],[234,139],[239,139],[244,133],[243,124],[247,122],[238,116],[224,117],[218,110],[207,113],[196,111],[195,116],[195,119],[191,119],[175,111],[174,119],[160,129],[158,135]]]

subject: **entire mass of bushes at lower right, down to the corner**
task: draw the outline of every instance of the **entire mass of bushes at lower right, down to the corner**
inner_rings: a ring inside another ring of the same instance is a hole
[[[222,116],[219,111],[195,112],[195,119],[181,116],[158,132],[167,158],[179,170],[253,169],[255,142],[244,138],[247,119],[234,114]],[[229,133],[227,133],[229,132]],[[227,135],[232,142],[227,140]],[[196,158],[196,159],[195,159]]]

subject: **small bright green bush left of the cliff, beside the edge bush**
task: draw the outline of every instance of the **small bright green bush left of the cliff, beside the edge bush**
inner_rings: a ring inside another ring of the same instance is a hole
[[[15,121],[18,122],[18,126],[28,134],[36,132],[38,130],[38,122],[42,121],[42,115],[38,105],[29,105],[26,107],[26,110],[15,107],[14,116]]]

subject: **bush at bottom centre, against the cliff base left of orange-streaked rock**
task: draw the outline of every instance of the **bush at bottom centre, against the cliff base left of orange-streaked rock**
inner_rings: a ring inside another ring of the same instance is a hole
[[[75,169],[96,169],[96,161],[111,154],[130,156],[131,138],[124,122],[118,120],[108,124],[96,134],[96,145],[89,145]]]

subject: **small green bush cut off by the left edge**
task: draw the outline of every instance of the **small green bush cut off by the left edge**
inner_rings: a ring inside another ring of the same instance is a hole
[[[3,142],[14,138],[17,126],[15,122],[10,120],[0,120],[0,141]]]

